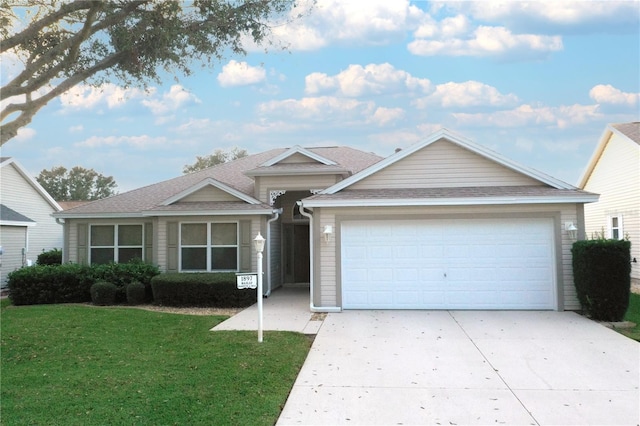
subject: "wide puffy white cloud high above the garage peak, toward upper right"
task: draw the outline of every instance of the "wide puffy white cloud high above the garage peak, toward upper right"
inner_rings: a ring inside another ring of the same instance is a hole
[[[544,57],[562,50],[562,38],[536,34],[513,34],[505,27],[479,26],[466,38],[416,39],[407,46],[418,56]]]

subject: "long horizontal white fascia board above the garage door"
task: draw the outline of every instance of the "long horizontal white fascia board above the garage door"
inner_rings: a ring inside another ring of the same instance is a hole
[[[573,197],[452,197],[452,198],[407,198],[393,200],[303,200],[305,207],[409,207],[409,206],[477,206],[489,204],[564,204],[594,203],[597,195]]]

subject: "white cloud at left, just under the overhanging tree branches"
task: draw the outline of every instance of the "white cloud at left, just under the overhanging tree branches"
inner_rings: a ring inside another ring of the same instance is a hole
[[[112,109],[143,96],[145,96],[143,90],[125,89],[112,83],[97,87],[79,84],[60,95],[60,103],[65,109],[91,109],[101,104],[106,104],[109,109]]]

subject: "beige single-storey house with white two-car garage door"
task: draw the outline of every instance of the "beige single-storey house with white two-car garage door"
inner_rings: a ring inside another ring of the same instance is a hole
[[[566,227],[590,194],[449,133],[386,159],[275,149],[55,214],[66,261],[256,271],[312,311],[579,309]]]

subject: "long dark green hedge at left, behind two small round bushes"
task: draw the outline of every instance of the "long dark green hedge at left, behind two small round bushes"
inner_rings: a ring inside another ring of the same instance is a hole
[[[86,303],[91,301],[91,285],[98,281],[114,284],[116,303],[127,300],[126,287],[132,282],[145,285],[145,301],[152,300],[151,278],[160,271],[140,261],[108,265],[35,265],[8,275],[9,298],[14,305]]]

